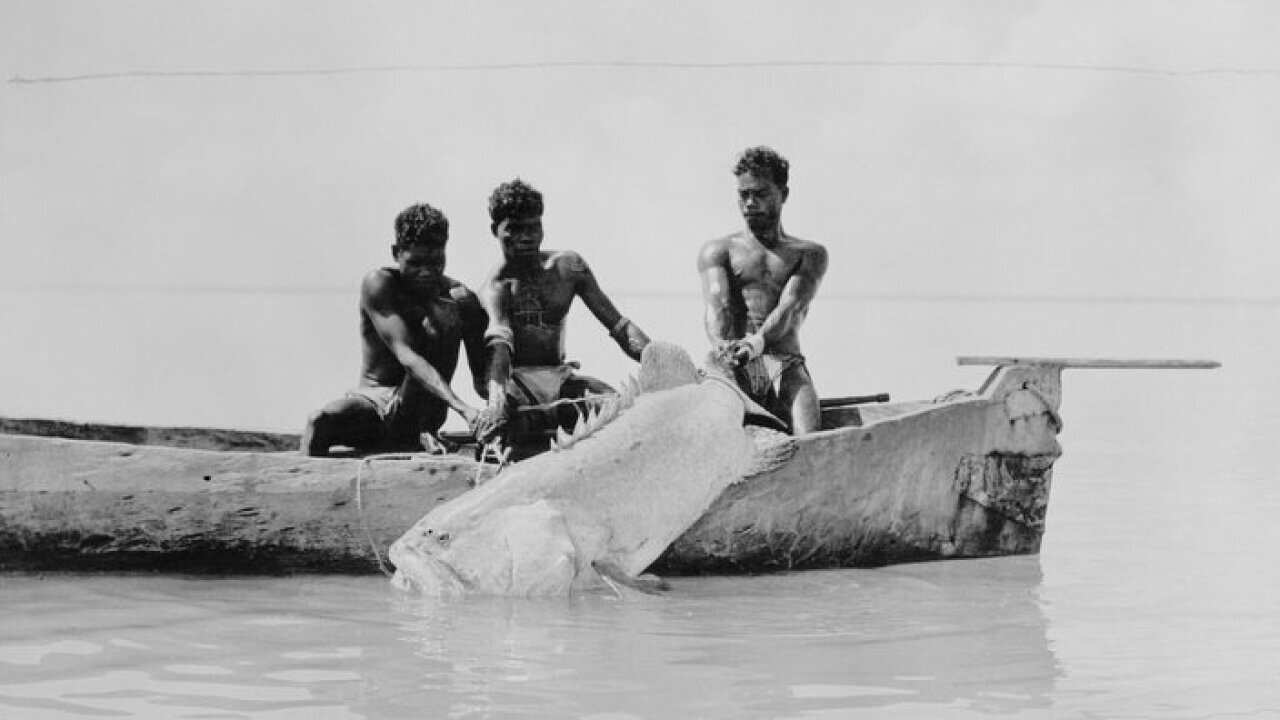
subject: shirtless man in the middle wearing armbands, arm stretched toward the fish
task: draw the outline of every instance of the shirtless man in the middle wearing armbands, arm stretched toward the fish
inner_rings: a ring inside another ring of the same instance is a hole
[[[502,263],[480,286],[489,314],[489,406],[481,436],[492,434],[521,406],[547,405],[586,392],[613,392],[608,384],[576,374],[564,361],[564,316],[575,297],[609,331],[632,360],[649,337],[613,306],[595,275],[572,250],[543,250],[543,195],[521,179],[499,184],[489,196],[489,225],[502,245]],[[571,420],[563,407],[558,420]]]

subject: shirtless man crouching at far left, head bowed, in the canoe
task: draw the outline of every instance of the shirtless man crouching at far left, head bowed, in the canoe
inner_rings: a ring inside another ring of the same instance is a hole
[[[360,384],[307,420],[301,450],[328,455],[334,445],[360,451],[422,450],[452,407],[475,429],[480,409],[449,387],[460,343],[476,392],[485,391],[484,328],[475,293],[444,274],[449,220],[430,205],[396,218],[394,268],[365,275],[360,287]]]

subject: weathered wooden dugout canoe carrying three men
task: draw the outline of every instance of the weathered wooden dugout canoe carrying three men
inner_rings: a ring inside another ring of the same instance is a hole
[[[973,392],[823,410],[782,468],[730,487],[666,574],[1034,553],[1064,368],[1212,361],[961,357]],[[836,404],[838,405],[838,404]],[[0,570],[372,573],[434,505],[497,471],[474,454],[305,457],[297,436],[0,418]]]

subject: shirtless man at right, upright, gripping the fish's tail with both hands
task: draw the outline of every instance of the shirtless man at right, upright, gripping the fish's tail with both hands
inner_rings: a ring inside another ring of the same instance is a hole
[[[739,384],[795,434],[820,428],[818,393],[800,352],[800,325],[827,272],[827,250],[782,231],[788,163],[769,147],[733,167],[746,227],[703,246],[707,336]]]

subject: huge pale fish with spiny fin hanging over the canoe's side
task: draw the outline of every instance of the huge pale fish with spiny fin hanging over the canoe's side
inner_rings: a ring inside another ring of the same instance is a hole
[[[393,582],[429,594],[554,596],[640,574],[749,474],[790,457],[787,439],[758,448],[744,414],[759,406],[701,374],[675,345],[653,342],[628,380],[549,452],[426,514],[396,541]]]

